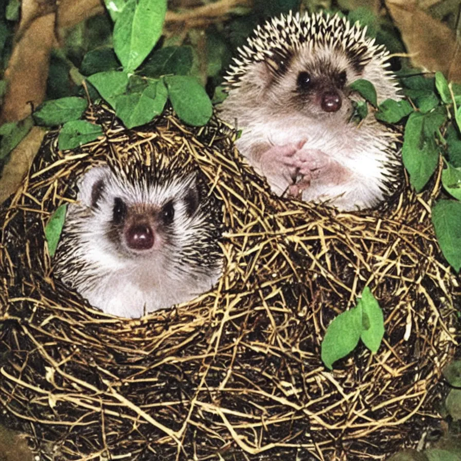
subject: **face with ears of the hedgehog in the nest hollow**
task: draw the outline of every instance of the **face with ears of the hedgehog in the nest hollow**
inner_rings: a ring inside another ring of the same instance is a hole
[[[79,183],[80,207],[88,212],[87,232],[123,258],[161,258],[177,246],[199,207],[196,176],[164,185],[133,184],[108,167],[93,168]]]

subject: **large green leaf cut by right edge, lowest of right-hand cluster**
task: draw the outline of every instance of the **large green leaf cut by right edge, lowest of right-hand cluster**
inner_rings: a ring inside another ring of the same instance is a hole
[[[461,202],[440,200],[432,207],[432,223],[445,259],[456,272],[461,268]]]

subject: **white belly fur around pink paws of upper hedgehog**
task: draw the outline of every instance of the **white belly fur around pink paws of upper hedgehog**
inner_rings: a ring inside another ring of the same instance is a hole
[[[364,123],[360,128],[352,123],[339,126],[315,123],[302,116],[272,119],[252,123],[237,140],[240,152],[251,150],[254,144],[297,144],[308,139],[304,148],[318,149],[350,171],[345,184],[331,186],[321,181],[313,182],[303,192],[303,200],[330,202],[342,210],[363,209],[383,200],[380,186],[385,181],[386,144],[392,140],[385,131],[376,129],[376,123]],[[253,163],[256,171],[263,175],[261,165]],[[274,193],[281,196],[290,186],[289,181],[270,182]]]

